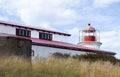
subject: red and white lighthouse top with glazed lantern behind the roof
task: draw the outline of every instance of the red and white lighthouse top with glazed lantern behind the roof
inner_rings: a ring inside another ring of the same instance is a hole
[[[88,24],[85,29],[79,31],[78,45],[99,49],[102,45],[100,42],[100,32]]]

